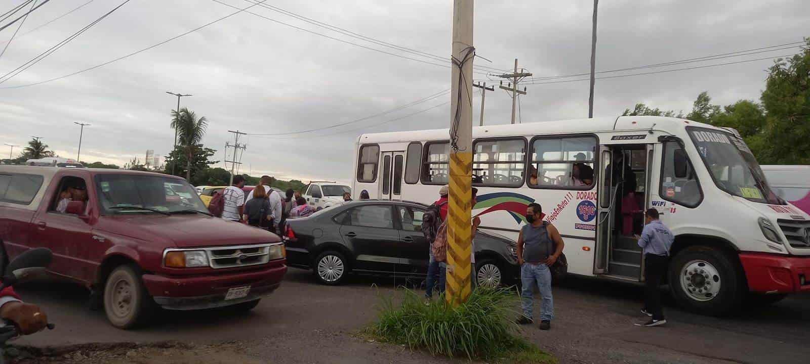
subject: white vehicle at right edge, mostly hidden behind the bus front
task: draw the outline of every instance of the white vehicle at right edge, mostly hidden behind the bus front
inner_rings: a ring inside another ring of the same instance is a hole
[[[760,166],[774,193],[810,214],[810,166]]]

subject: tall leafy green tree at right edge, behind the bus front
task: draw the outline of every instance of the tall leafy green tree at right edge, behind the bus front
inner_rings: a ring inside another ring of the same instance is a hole
[[[800,53],[770,67],[762,91],[767,163],[810,163],[810,38],[804,40]]]

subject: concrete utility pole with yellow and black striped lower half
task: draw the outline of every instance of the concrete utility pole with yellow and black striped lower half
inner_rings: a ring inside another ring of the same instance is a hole
[[[447,283],[451,305],[471,294],[472,47],[473,0],[454,0],[450,106],[450,203],[447,214]]]

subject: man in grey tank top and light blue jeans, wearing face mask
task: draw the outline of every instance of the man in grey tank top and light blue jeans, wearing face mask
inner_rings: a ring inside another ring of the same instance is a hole
[[[552,297],[552,272],[549,269],[562,254],[565,243],[560,231],[551,222],[543,221],[543,209],[538,203],[531,203],[526,210],[527,225],[518,235],[518,265],[520,265],[520,296],[523,314],[518,324],[532,324],[531,309],[534,305],[532,294],[535,285],[540,290],[543,302],[540,304],[540,329],[552,327],[554,318],[554,298]]]

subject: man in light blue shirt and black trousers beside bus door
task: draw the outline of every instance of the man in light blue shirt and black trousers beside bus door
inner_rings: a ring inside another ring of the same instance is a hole
[[[650,316],[650,320],[636,326],[659,326],[667,324],[663,317],[661,306],[661,279],[667,272],[669,250],[675,236],[672,231],[659,220],[659,212],[655,209],[647,210],[644,214],[645,223],[642,236],[636,235],[638,246],[642,247],[644,254],[644,280],[646,283],[644,294],[644,308],[642,313]]]

